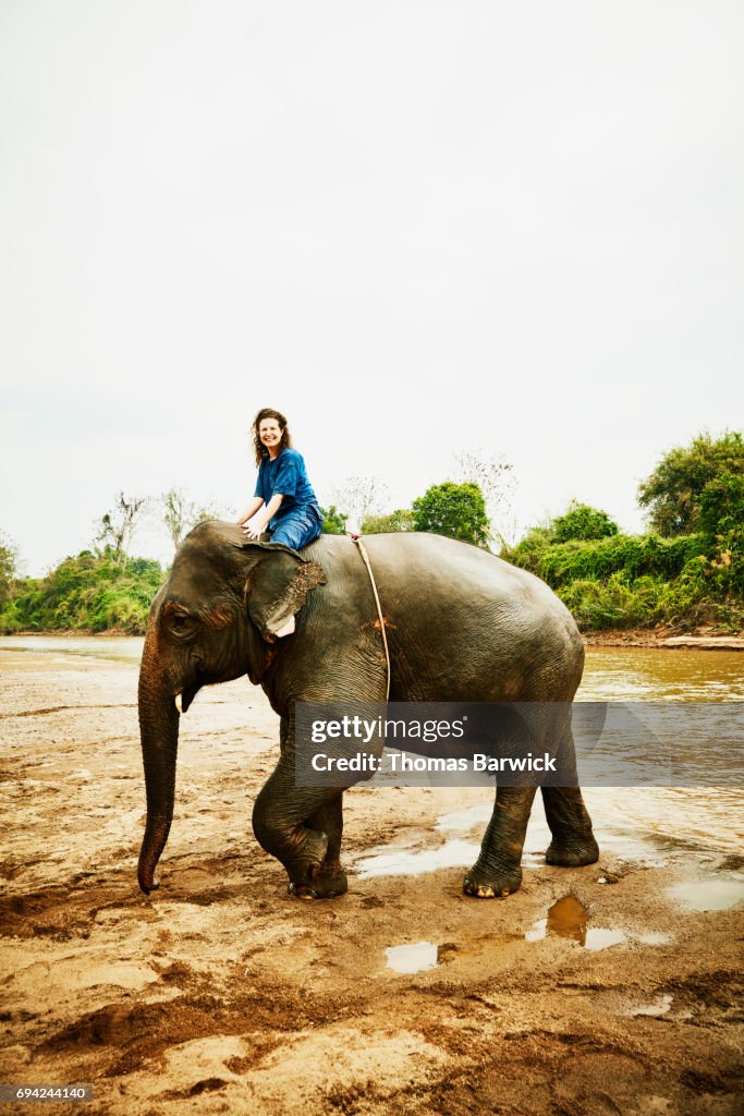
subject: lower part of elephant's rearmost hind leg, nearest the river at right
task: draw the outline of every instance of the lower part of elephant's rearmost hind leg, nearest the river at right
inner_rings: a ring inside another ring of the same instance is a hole
[[[560,743],[558,768],[572,773],[578,783],[573,733],[570,725]],[[599,846],[579,787],[543,787],[542,801],[552,834],[552,840],[545,853],[548,864],[561,868],[596,864],[599,859]]]

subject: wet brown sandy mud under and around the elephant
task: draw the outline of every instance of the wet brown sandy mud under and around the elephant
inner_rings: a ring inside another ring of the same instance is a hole
[[[462,896],[460,867],[359,868],[378,847],[444,845],[437,819],[487,790],[355,789],[349,894],[302,903],[250,829],[277,732],[241,681],[182,720],[176,817],[145,898],[136,667],[0,652],[0,1080],[95,1094],[0,1110],[742,1110],[742,908],[695,912],[669,893],[742,865],[687,846],[684,817],[656,857],[612,845],[582,869],[540,866],[539,831],[522,891],[484,902]],[[586,947],[587,929],[608,932],[605,947]],[[387,947],[421,941],[434,968],[387,966]]]

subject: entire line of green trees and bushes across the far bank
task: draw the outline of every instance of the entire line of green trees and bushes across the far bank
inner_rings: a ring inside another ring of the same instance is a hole
[[[651,529],[641,536],[621,535],[607,512],[574,501],[515,546],[496,542],[489,511],[499,504],[509,465],[474,458],[468,462],[471,479],[434,484],[407,509],[367,512],[360,517],[363,532],[434,531],[491,546],[547,581],[584,631],[657,624],[678,631],[744,627],[741,433],[717,440],[702,434],[664,455],[639,488]],[[363,481],[357,478],[349,491],[357,497],[363,492],[369,502],[370,484]],[[192,508],[182,493],[162,499],[177,545],[189,521],[205,518],[206,511]],[[99,545],[42,578],[20,577],[17,549],[0,537],[0,631],[142,634],[167,571],[157,561],[126,554],[137,510],[136,501],[119,493],[114,512],[100,521]],[[340,533],[348,518],[331,506],[325,510],[323,530]]]

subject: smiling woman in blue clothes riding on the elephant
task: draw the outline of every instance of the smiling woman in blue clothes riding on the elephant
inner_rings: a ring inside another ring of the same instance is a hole
[[[238,525],[249,539],[259,539],[268,529],[269,541],[300,550],[318,538],[322,527],[302,454],[292,448],[286,417],[271,407],[253,420],[253,439],[259,475]]]

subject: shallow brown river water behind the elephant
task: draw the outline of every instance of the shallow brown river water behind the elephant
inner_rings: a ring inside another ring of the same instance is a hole
[[[141,637],[2,636],[0,651],[48,653],[137,663]],[[51,665],[51,663],[50,663]],[[590,647],[577,694],[584,702],[741,702],[744,652]],[[714,740],[699,742],[704,764]],[[665,845],[693,843],[712,849],[744,850],[744,791],[729,787],[589,787],[584,791],[602,846],[658,863]],[[442,820],[439,828],[463,835],[491,815],[492,802]],[[544,848],[548,833],[534,811],[526,850]]]

